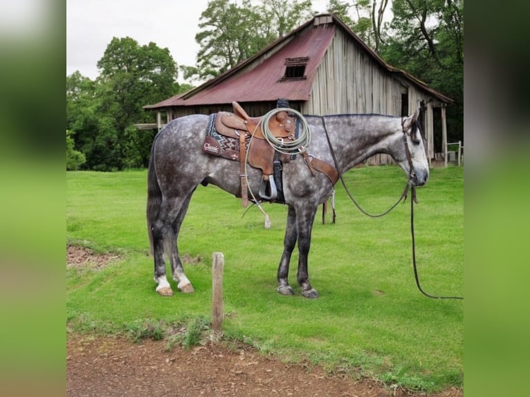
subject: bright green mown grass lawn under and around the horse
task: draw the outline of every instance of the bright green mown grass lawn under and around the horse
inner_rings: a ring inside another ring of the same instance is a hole
[[[253,207],[217,187],[199,186],[179,238],[195,293],[159,297],[145,223],[147,172],[66,173],[67,243],[121,260],[101,270],[66,270],[68,329],[156,338],[174,324],[211,315],[212,252],[223,252],[225,340],[249,342],[286,361],[309,360],[329,371],[369,376],[409,389],[463,387],[463,302],[429,299],[414,283],[410,204],[371,219],[336,185],[335,224],[321,212],[313,228],[309,275],[318,299],[305,299],[296,283],[298,254],[289,279],[297,295],[276,288],[286,207],[264,205],[272,227]],[[365,210],[386,210],[401,194],[397,167],[363,167],[345,176]],[[421,285],[432,295],[463,295],[464,172],[432,169],[414,207]],[[410,197],[409,197],[410,200]],[[244,215],[244,216],[243,216]],[[167,266],[168,272],[169,265]],[[176,290],[173,281],[172,286]],[[202,324],[202,323],[201,323]],[[190,338],[192,333],[182,338]],[[168,336],[168,338],[170,338]],[[189,342],[189,341],[188,341]]]

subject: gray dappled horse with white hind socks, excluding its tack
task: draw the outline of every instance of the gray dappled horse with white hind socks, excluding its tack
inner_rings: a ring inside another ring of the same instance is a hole
[[[417,118],[381,115],[304,116],[311,131],[307,152],[336,168],[340,175],[378,153],[390,154],[409,176],[409,184],[425,185],[429,166]],[[183,293],[194,291],[186,277],[176,239],[194,190],[199,183],[217,185],[241,196],[239,162],[203,153],[209,116],[192,115],[167,124],[154,138],[148,172],[147,225],[154,255],[154,281],[160,295],[172,295],[165,273],[164,253],[174,281]],[[330,150],[330,145],[331,149]],[[333,160],[333,154],[336,162]],[[307,259],[311,229],[318,210],[333,192],[333,182],[322,172],[311,172],[307,160],[297,155],[284,163],[283,191],[288,205],[284,251],[277,271],[282,295],[293,295],[289,286],[289,262],[298,240],[298,284],[304,297],[318,297],[309,282]],[[248,167],[248,187],[257,192],[262,182],[259,169]]]

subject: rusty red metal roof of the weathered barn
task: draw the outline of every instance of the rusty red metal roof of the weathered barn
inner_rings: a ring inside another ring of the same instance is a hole
[[[312,28],[307,28],[310,25],[312,25]],[[386,64],[340,19],[334,15],[325,14],[313,17],[313,19],[293,30],[289,35],[280,37],[280,39],[277,39],[273,44],[253,57],[246,59],[212,80],[208,80],[201,86],[157,104],[147,105],[144,109],[227,104],[231,103],[234,98],[237,98],[238,102],[275,101],[277,98],[288,98],[293,101],[309,100],[313,78],[338,26],[345,29],[371,55],[374,61],[387,71],[401,75],[443,102],[453,103],[453,100],[430,89],[427,84],[412,75]],[[281,48],[276,50],[278,47]],[[268,54],[272,55],[267,57],[266,55]],[[305,78],[296,80],[282,79],[286,71],[286,59],[298,57],[309,57],[304,71]],[[248,70],[254,62],[260,63]]]

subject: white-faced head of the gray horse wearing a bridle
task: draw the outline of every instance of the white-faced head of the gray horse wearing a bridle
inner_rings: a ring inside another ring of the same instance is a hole
[[[401,120],[403,151],[405,156],[398,163],[409,176],[410,183],[415,186],[422,186],[427,183],[429,178],[429,162],[426,156],[425,139],[418,122],[418,116],[419,109],[412,116]]]

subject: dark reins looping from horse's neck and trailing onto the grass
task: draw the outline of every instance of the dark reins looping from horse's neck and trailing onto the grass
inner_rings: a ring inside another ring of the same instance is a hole
[[[327,128],[326,128],[326,121],[324,119],[324,116],[321,116],[320,118],[322,118],[322,125],[323,125],[324,131],[326,133],[327,144],[329,146],[329,151],[331,152],[331,157],[333,158],[333,163],[335,163],[335,167],[336,167],[336,169],[338,171],[338,169],[339,169],[338,162],[337,162],[337,158],[336,158],[336,155],[335,155],[335,151],[333,151],[333,147],[331,146],[331,140],[329,139],[329,134],[328,134]],[[360,210],[360,212],[363,212],[363,214],[365,214],[367,216],[370,216],[372,218],[378,218],[378,217],[381,217],[383,215],[388,214],[390,211],[394,210],[396,205],[398,205],[401,202],[401,200],[403,200],[403,203],[404,203],[407,200],[408,190],[410,188],[410,190],[412,192],[412,200],[410,200],[410,234],[412,236],[412,267],[414,268],[414,279],[416,279],[416,285],[417,285],[419,291],[423,295],[425,295],[426,297],[430,297],[432,299],[464,299],[464,297],[446,297],[446,296],[430,295],[430,294],[426,293],[423,290],[423,288],[421,288],[421,285],[419,284],[418,269],[417,269],[417,265],[416,265],[416,241],[414,239],[414,203],[418,203],[418,201],[416,199],[416,187],[412,184],[412,178],[414,178],[415,174],[414,174],[414,167],[412,167],[412,155],[410,154],[410,149],[408,148],[407,131],[405,131],[404,122],[405,122],[405,119],[403,118],[401,120],[401,128],[403,129],[403,142],[405,143],[405,154],[407,156],[407,160],[408,160],[408,163],[409,163],[409,166],[410,166],[410,174],[409,174],[409,180],[407,181],[407,184],[405,185],[405,190],[403,190],[403,193],[399,197],[398,201],[396,201],[396,203],[394,205],[392,205],[392,207],[390,207],[388,210],[386,210],[385,212],[383,212],[381,214],[378,214],[378,215],[369,214],[368,212],[363,210],[363,208],[361,208],[360,205],[358,205],[358,203],[355,201],[354,197],[351,196],[348,188],[346,187],[346,183],[344,181],[344,178],[342,178],[342,174],[339,172],[338,175],[339,175],[339,178],[340,178],[340,182],[342,183],[342,186],[344,187],[347,195],[349,196],[349,199],[351,199],[351,201]]]

